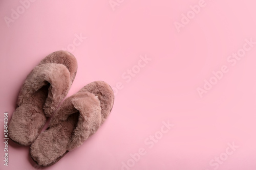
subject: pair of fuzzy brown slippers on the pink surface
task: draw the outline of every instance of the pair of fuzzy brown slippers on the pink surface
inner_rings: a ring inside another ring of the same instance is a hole
[[[18,94],[9,137],[20,145],[31,144],[30,155],[39,166],[50,166],[78,148],[112,110],[114,92],[103,81],[84,86],[57,109],[76,71],[77,61],[71,53],[54,52],[30,72]],[[49,127],[40,133],[51,116]]]

